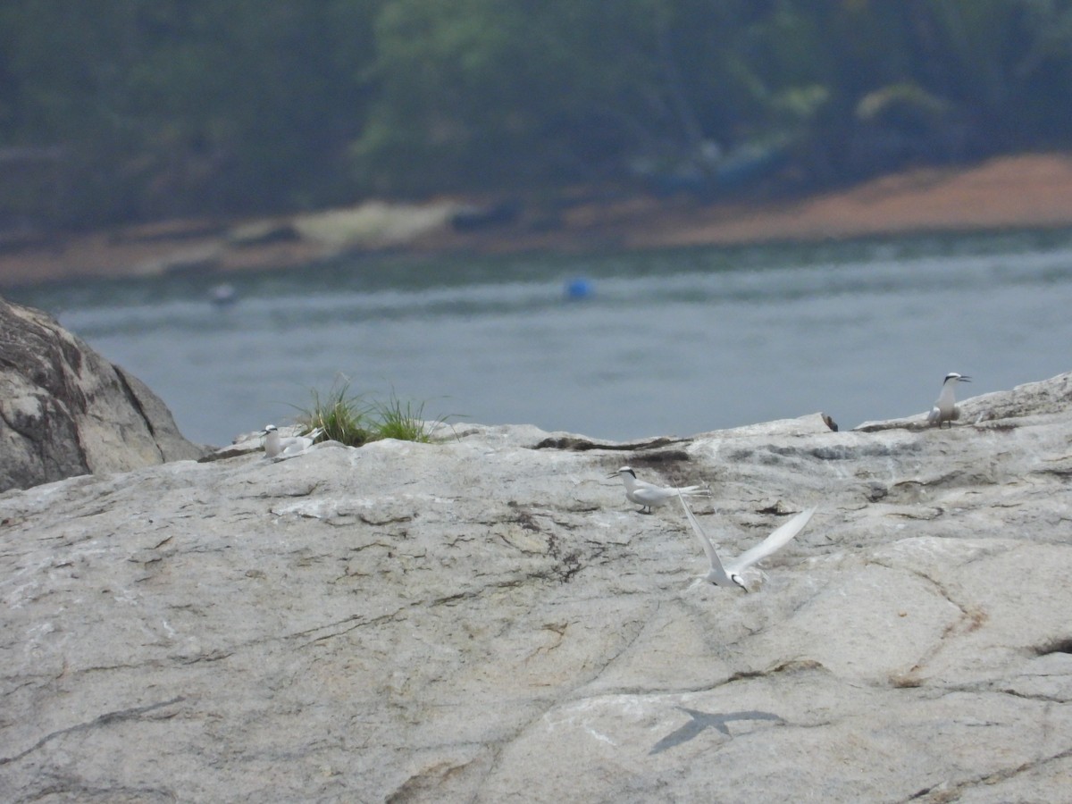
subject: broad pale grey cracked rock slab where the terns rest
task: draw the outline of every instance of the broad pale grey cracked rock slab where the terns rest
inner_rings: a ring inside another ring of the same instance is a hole
[[[0,496],[3,801],[1067,800],[1072,374],[831,432],[528,427]],[[803,506],[745,594],[696,579]]]

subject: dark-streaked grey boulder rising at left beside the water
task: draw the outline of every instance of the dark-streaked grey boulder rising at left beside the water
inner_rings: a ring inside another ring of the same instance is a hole
[[[204,449],[137,377],[50,316],[0,299],[0,491]]]

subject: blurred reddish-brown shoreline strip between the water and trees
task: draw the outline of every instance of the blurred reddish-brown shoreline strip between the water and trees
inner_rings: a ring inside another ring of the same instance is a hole
[[[590,200],[557,210],[553,220],[521,215],[516,221],[468,232],[455,230],[446,223],[446,214],[436,212],[449,209],[448,204],[407,208],[411,217],[420,217],[423,227],[402,227],[403,234],[398,234],[399,227],[394,226],[388,233],[391,238],[377,232],[367,242],[353,241],[344,247],[324,238],[295,235],[295,219],[284,218],[169,221],[72,235],[20,248],[9,245],[0,251],[0,288],[63,279],[166,272],[225,278],[234,271],[291,267],[347,251],[426,255],[585,253],[927,232],[1056,228],[1072,226],[1072,154],[1027,153],[967,167],[917,168],[791,200],[698,204],[643,195]],[[363,208],[358,211],[364,213]],[[322,218],[329,215],[338,213],[324,213]],[[235,237],[239,230],[262,235],[239,241]]]

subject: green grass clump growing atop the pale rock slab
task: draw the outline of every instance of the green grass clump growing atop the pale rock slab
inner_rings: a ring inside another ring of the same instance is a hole
[[[299,408],[297,421],[309,428],[321,428],[321,440],[337,441],[348,447],[360,447],[371,441],[397,438],[427,444],[430,433],[445,417],[425,420],[425,405],[402,402],[393,391],[387,402],[369,402],[363,394],[352,394],[349,382],[337,382],[327,394],[312,391],[312,406]]]

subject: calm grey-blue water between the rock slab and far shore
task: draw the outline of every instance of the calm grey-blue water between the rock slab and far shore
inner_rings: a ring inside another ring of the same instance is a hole
[[[566,298],[584,278],[592,295]],[[688,435],[816,411],[843,428],[1072,370],[1072,232],[597,257],[358,259],[229,281],[24,288],[146,382],[198,442],[289,421],[312,388],[427,418],[594,437]]]

